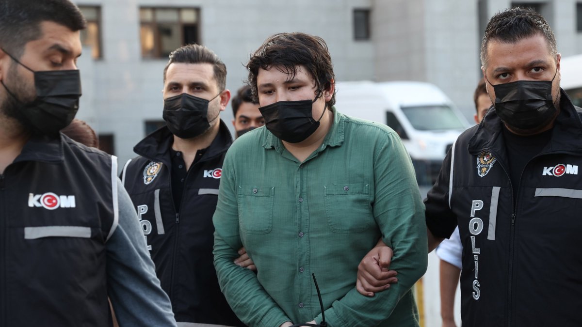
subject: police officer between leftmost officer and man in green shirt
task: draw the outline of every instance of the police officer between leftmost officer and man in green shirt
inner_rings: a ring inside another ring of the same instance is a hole
[[[164,70],[166,126],[134,147],[139,157],[122,172],[179,323],[242,325],[221,293],[212,256],[212,215],[232,143],[219,118],[230,99],[225,84],[226,66],[210,49],[173,51]]]

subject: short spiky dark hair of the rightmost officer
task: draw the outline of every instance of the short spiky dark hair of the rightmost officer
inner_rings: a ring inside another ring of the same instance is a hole
[[[544,35],[549,53],[556,58],[558,46],[548,22],[533,9],[512,8],[499,12],[489,20],[481,41],[481,65],[487,67],[487,45],[490,41],[516,43],[535,34]]]

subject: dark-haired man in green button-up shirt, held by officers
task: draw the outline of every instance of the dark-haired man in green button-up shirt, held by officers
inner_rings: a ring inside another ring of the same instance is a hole
[[[247,65],[265,127],[226,154],[214,214],[214,264],[249,326],[418,326],[411,287],[427,268],[424,205],[398,135],[335,111],[325,41],[282,33]],[[365,297],[357,266],[382,238],[398,283]],[[258,273],[236,265],[244,246]]]

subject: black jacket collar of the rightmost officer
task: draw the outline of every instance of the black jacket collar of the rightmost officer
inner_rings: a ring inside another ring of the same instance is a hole
[[[560,95],[560,113],[552,127],[551,140],[541,153],[573,152],[582,155],[582,109],[574,106],[561,88]],[[478,154],[491,150],[497,155],[505,154],[502,124],[495,109],[490,108],[469,140],[469,152]]]

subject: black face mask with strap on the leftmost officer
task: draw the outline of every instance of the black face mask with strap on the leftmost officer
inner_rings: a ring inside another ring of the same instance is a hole
[[[56,136],[72,122],[79,110],[81,77],[79,70],[43,70],[35,72],[2,49],[13,61],[34,73],[36,97],[23,102],[4,84],[6,92],[21,106],[16,118],[36,134]]]

